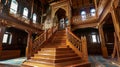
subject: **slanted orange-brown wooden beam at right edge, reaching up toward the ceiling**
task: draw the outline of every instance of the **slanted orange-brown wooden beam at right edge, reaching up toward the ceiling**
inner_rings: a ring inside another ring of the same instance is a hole
[[[120,42],[120,25],[119,25],[120,22],[118,21],[118,17],[116,16],[114,6],[111,8],[111,15],[112,15],[112,19],[113,19],[115,34],[117,35],[117,38]]]

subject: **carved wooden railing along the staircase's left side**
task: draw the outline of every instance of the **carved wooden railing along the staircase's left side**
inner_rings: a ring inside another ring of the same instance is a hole
[[[33,44],[32,44],[32,55],[35,54],[40,49],[40,46],[46,40],[48,40],[53,35],[53,33],[55,33],[57,30],[58,30],[58,26],[55,26],[44,31],[41,35],[36,37],[36,39],[33,41]]]

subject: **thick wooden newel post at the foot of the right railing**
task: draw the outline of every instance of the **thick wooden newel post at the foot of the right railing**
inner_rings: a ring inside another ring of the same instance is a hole
[[[88,61],[88,51],[87,51],[87,40],[86,37],[81,37],[82,41],[82,53],[83,53],[83,60]]]

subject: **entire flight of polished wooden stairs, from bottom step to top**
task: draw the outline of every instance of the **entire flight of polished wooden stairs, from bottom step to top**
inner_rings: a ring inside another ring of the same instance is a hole
[[[71,48],[66,46],[65,30],[58,31],[43,44],[33,57],[26,60],[22,67],[90,67]]]

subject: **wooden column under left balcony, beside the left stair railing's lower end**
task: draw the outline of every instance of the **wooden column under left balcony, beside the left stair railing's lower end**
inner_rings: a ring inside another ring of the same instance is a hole
[[[26,47],[26,57],[27,59],[30,59],[32,56],[32,32],[28,32],[28,39],[27,39],[27,47]]]

